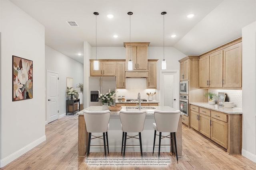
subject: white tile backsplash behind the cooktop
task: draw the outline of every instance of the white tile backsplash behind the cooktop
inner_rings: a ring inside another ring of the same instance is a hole
[[[126,89],[116,89],[116,96],[124,96],[126,99],[136,99],[138,93],[140,93],[141,99],[147,99],[148,95],[146,93],[154,93],[156,89],[146,89],[146,78],[126,78]],[[153,96],[153,100],[156,100],[156,95]]]

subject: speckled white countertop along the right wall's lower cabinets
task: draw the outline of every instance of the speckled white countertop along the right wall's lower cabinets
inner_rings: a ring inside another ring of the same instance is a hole
[[[212,109],[216,111],[220,111],[222,113],[227,113],[227,114],[243,114],[242,109],[232,107],[232,108],[225,108],[225,106],[218,106],[217,104],[214,105],[209,105],[208,102],[191,102],[190,104],[199,106],[199,107],[204,107],[206,109]]]

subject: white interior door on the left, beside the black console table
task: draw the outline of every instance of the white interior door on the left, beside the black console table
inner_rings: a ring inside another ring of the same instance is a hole
[[[47,121],[48,123],[58,119],[59,108],[59,81],[58,73],[47,70]]]

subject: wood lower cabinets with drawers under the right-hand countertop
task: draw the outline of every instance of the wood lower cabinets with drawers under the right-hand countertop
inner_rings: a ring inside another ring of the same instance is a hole
[[[229,154],[242,153],[242,114],[190,105],[190,126],[227,149]]]

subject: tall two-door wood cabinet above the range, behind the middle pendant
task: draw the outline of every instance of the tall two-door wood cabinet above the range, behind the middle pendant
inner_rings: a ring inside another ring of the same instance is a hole
[[[131,59],[133,70],[148,70],[148,45],[149,43],[124,43],[126,63]]]

